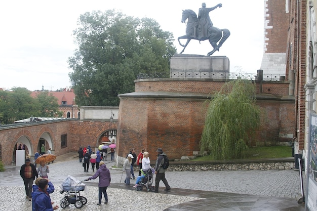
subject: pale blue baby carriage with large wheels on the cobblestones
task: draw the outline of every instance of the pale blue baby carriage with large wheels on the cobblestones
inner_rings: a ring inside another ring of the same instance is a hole
[[[86,185],[83,181],[76,180],[72,176],[67,176],[67,178],[63,181],[61,188],[62,190],[60,193],[66,193],[60,203],[62,208],[66,208],[69,204],[75,204],[75,207],[81,208],[87,203],[87,198],[81,196],[81,191],[86,189]]]

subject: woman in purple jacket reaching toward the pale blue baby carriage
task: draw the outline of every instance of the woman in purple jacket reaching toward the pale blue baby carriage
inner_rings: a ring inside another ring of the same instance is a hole
[[[110,185],[110,182],[111,182],[111,177],[110,177],[110,171],[108,170],[106,164],[104,164],[103,161],[101,161],[100,163],[100,167],[99,169],[97,170],[96,174],[90,178],[88,178],[88,180],[94,180],[96,179],[97,177],[99,177],[99,184],[98,184],[98,187],[99,187],[99,201],[97,203],[97,205],[100,205],[101,204],[101,198],[102,198],[102,193],[103,193],[103,196],[105,198],[105,204],[108,203],[108,195],[107,195],[107,188],[108,186]]]

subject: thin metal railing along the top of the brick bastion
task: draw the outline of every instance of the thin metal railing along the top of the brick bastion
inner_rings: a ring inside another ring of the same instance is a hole
[[[241,72],[155,72],[155,73],[140,73],[137,79],[146,78],[213,78],[213,79],[244,79],[258,80],[260,78],[255,73]],[[264,81],[280,81],[285,80],[285,75],[281,74],[263,74]]]

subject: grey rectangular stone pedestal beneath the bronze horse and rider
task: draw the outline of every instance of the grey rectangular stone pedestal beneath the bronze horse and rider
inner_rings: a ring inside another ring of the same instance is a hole
[[[171,78],[229,78],[229,72],[226,56],[175,54],[171,58]]]

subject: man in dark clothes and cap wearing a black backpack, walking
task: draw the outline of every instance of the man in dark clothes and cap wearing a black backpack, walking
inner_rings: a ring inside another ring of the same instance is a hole
[[[154,192],[159,192],[159,185],[160,185],[160,181],[162,180],[166,189],[164,189],[165,191],[169,191],[171,190],[171,187],[169,186],[169,183],[167,182],[166,178],[165,178],[165,171],[166,168],[169,165],[169,160],[167,157],[167,154],[163,152],[162,148],[158,148],[156,150],[157,154],[157,159],[155,162],[155,189]]]

